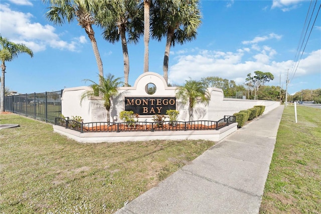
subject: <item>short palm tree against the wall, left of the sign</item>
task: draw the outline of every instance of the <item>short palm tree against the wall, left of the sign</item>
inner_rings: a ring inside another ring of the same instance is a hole
[[[90,81],[92,82],[89,87],[92,88],[92,90],[85,91],[81,95],[80,99],[80,104],[82,103],[82,100],[84,98],[88,97],[98,97],[103,100],[103,105],[106,108],[107,111],[107,122],[110,122],[110,107],[111,107],[111,102],[112,98],[118,94],[118,87],[122,82],[120,81],[120,78],[115,78],[114,75],[108,74],[105,77],[99,75],[99,84],[96,82],[90,80],[90,79],[85,79],[85,81]]]

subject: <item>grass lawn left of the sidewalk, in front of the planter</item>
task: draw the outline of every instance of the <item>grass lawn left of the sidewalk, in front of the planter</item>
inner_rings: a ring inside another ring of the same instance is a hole
[[[211,141],[81,144],[52,125],[0,115],[1,213],[114,212],[192,161]]]

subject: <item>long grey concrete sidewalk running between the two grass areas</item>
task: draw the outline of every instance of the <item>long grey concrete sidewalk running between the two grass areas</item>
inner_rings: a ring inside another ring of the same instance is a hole
[[[258,213],[283,109],[245,125],[116,213]]]

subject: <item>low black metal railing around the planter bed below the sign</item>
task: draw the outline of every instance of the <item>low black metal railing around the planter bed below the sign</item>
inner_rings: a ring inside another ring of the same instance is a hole
[[[164,122],[124,122],[83,123],[69,118],[56,118],[55,125],[84,132],[137,132],[137,131],[188,131],[188,130],[219,130],[236,123],[235,116],[224,116],[219,121],[164,121]]]

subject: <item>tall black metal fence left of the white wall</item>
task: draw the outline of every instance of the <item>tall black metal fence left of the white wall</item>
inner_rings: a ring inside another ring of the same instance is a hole
[[[55,118],[61,117],[62,92],[63,90],[6,96],[5,111],[55,123]]]

